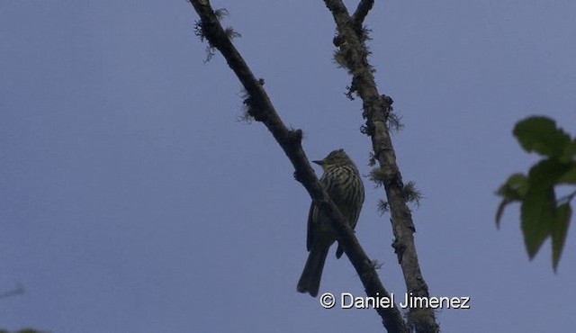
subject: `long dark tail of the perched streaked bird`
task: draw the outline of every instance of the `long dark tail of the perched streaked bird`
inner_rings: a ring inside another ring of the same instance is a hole
[[[297,290],[299,293],[310,293],[312,297],[318,295],[320,278],[322,277],[322,270],[324,269],[329,248],[329,246],[323,244],[314,244],[308,255],[308,260],[306,260],[306,266],[304,266],[300,281],[298,281]]]

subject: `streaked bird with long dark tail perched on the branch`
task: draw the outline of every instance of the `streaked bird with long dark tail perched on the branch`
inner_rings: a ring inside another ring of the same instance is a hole
[[[328,157],[312,162],[322,166],[324,174],[320,178],[320,184],[350,223],[350,227],[354,229],[364,203],[364,184],[362,184],[356,165],[343,149],[334,150],[329,153]],[[306,247],[310,254],[298,281],[298,292],[310,293],[312,297],[318,295],[324,263],[334,241],[336,241],[336,232],[332,229],[329,218],[312,202],[308,214],[308,238],[306,240]],[[342,257],[343,253],[344,250],[338,244],[336,257]]]

